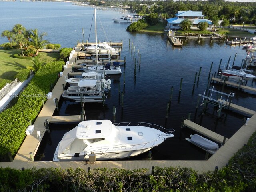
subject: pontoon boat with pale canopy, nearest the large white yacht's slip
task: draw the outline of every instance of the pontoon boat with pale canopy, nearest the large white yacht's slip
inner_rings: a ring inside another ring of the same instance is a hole
[[[62,94],[64,99],[75,102],[102,102],[104,93],[108,93],[102,82],[94,79],[85,79],[78,82],[78,86],[70,86]]]

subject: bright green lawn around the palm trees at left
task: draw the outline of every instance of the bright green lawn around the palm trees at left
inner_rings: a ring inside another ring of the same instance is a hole
[[[33,66],[31,60],[12,57],[12,55],[17,53],[20,53],[19,49],[0,50],[0,89],[4,87],[6,83],[12,82],[15,79],[15,75],[20,70]],[[39,58],[40,60],[44,60],[44,64],[57,61],[59,56],[59,53],[39,53]]]

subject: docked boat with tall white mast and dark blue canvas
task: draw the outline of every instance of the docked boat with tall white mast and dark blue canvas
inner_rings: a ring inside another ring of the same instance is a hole
[[[98,53],[98,43],[97,43],[97,22],[96,22],[96,9],[94,9],[94,16],[95,16],[95,39],[96,39],[96,46],[95,52]],[[83,67],[85,72],[102,72],[105,71],[105,74],[112,75],[112,74],[122,74],[122,70],[120,68],[119,62],[107,63],[105,66],[99,65],[98,66],[98,54],[96,54],[96,66],[84,66]]]

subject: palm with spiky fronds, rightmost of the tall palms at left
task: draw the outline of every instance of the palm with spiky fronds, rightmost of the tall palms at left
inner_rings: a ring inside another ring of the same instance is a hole
[[[30,45],[36,48],[36,55],[38,55],[38,50],[41,49],[44,45],[48,44],[48,40],[44,40],[43,37],[46,33],[38,34],[38,30],[30,30]]]

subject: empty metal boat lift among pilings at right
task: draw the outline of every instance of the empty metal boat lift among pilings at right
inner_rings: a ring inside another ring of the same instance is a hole
[[[209,90],[211,91],[210,97],[206,96],[206,91],[204,91],[204,95],[198,94],[198,104],[199,104],[200,97],[202,97],[203,100],[202,100],[202,104],[200,105],[200,106],[203,106],[202,114],[204,114],[204,111],[206,110],[206,106],[207,106],[208,103],[212,104],[214,106],[218,106],[218,111],[217,112],[218,112],[218,118],[219,118],[222,108],[227,108],[228,109],[230,107],[230,104],[233,100],[233,97],[234,97],[235,93],[230,92],[230,94],[226,94],[224,92],[214,90],[214,87],[212,87],[212,89],[209,89]],[[218,95],[218,98],[214,99],[214,98],[212,98],[213,93],[218,93],[218,94],[220,94],[220,96]],[[227,96],[227,98],[222,99],[223,96]],[[196,108],[198,108],[198,104],[197,104]]]

